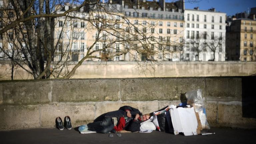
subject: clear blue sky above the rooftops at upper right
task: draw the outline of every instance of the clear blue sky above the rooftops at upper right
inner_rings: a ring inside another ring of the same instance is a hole
[[[176,0],[166,0],[166,2],[173,1]],[[250,11],[251,7],[256,7],[256,0],[185,0],[185,9],[193,9],[194,7],[199,7],[199,10],[215,8],[216,11],[224,12],[229,16],[244,11],[248,12],[248,8]]]

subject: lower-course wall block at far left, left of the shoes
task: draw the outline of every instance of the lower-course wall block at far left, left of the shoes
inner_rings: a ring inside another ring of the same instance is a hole
[[[38,127],[39,106],[0,105],[0,130]]]

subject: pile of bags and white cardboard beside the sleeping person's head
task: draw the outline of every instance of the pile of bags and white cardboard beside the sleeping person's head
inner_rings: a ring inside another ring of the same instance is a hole
[[[187,103],[170,105],[151,113],[149,120],[141,123],[140,132],[158,130],[175,135],[197,135],[202,129],[210,129],[202,99],[202,90],[186,93]]]

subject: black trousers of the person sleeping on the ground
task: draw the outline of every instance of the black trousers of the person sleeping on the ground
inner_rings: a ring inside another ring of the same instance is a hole
[[[87,124],[88,130],[96,131],[97,133],[109,133],[114,128],[112,118],[104,118],[100,121],[94,121]]]

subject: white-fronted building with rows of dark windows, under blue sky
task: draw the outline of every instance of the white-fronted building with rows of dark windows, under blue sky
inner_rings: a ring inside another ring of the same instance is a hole
[[[226,13],[215,12],[215,9],[185,9],[184,39],[187,47],[185,48],[184,57],[186,60],[213,60],[214,52],[209,49],[207,44],[210,45],[211,42],[214,42],[220,43],[216,44],[218,46],[215,50],[215,61],[225,61],[225,17]],[[197,48],[197,45],[199,48]],[[196,52],[197,49],[199,52]]]

